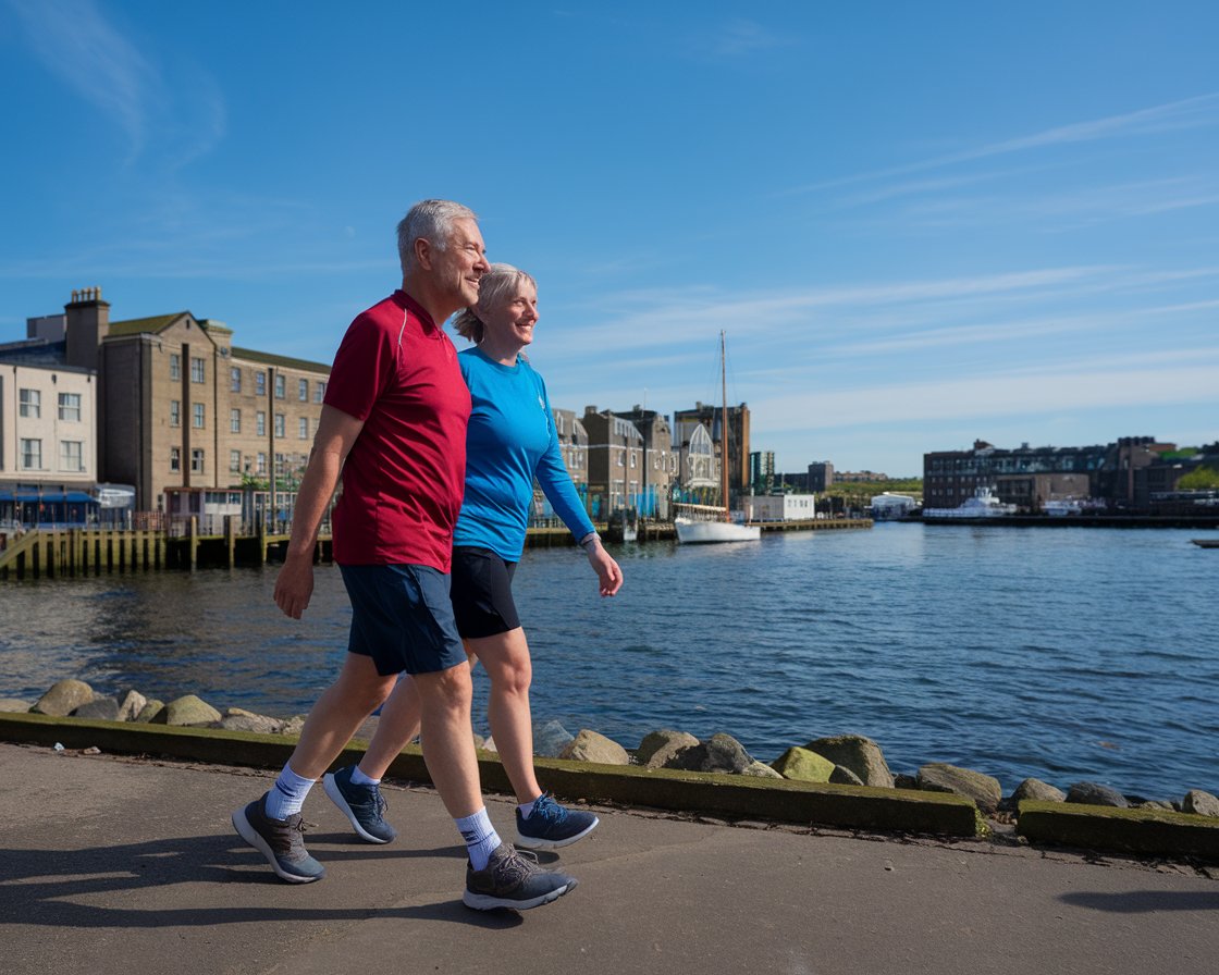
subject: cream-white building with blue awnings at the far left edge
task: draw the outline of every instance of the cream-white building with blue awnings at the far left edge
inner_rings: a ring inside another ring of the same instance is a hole
[[[0,346],[0,523],[95,519],[98,377],[44,344]]]

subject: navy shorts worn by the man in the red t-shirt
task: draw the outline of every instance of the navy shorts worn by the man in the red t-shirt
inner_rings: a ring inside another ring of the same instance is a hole
[[[347,651],[377,673],[432,674],[466,663],[449,576],[428,566],[340,566],[351,598]]]

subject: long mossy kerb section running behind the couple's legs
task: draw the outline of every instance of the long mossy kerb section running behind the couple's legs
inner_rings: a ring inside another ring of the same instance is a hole
[[[46,746],[59,742],[66,748],[96,747],[116,754],[254,768],[282,767],[296,743],[295,736],[289,735],[5,713],[0,713],[0,740]],[[355,760],[363,745],[349,745],[336,765]],[[549,758],[536,759],[535,767],[546,787],[566,801],[881,832],[956,837],[979,834],[980,819],[974,803],[947,793],[813,785]],[[503,767],[494,753],[479,752],[479,771],[489,791],[511,791]],[[416,746],[408,746],[394,760],[389,775],[416,782],[432,781]]]

